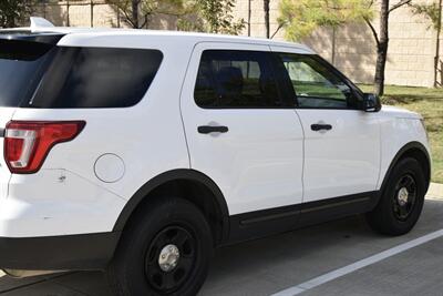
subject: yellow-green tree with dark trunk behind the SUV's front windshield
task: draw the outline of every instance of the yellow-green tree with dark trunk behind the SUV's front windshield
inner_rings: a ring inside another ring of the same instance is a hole
[[[349,22],[364,21],[377,43],[377,62],[374,74],[374,92],[384,93],[384,70],[389,48],[389,18],[391,12],[412,6],[412,0],[380,0],[375,8],[375,0],[282,0],[280,6],[280,27],[286,28],[289,40],[299,40],[309,35],[319,27],[337,29]],[[379,30],[372,23],[378,10]]]

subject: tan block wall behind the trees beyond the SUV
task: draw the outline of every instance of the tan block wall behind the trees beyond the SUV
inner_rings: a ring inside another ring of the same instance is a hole
[[[432,2],[437,0],[415,0]],[[127,27],[119,18],[114,7],[102,0],[51,1],[38,7],[35,14],[48,18],[58,25],[73,27]],[[270,1],[270,32],[277,30],[279,0]],[[248,20],[249,0],[237,0],[234,14]],[[250,34],[265,37],[265,16],[262,0],[250,0]],[[92,13],[92,17],[91,17]],[[92,21],[92,22],[91,22]],[[378,28],[378,21],[374,21]],[[157,16],[150,23],[151,29],[174,30],[175,18]],[[248,27],[243,34],[248,33]],[[441,59],[443,59],[443,34],[441,41]],[[285,39],[284,30],[279,30],[275,39]],[[334,39],[334,42],[333,42]],[[302,40],[323,58],[332,62],[352,80],[372,83],[375,64],[375,44],[371,31],[365,24],[350,24],[339,28],[320,29]],[[332,44],[336,43],[334,57]],[[411,86],[433,86],[436,33],[422,17],[412,16],[410,9],[401,8],[391,14],[390,48],[387,64],[387,83]],[[443,61],[440,62],[440,69]],[[443,82],[443,76],[439,75]]]

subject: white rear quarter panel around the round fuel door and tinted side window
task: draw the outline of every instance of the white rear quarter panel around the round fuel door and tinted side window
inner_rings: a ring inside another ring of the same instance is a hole
[[[70,171],[128,200],[157,174],[189,167],[179,111],[179,92],[192,43],[182,42],[178,47],[154,37],[148,39],[143,35],[122,34],[110,38],[75,34],[63,38],[60,45],[158,49],[164,58],[150,90],[135,106],[18,109],[13,120],[86,122],[84,130],[74,141],[58,144],[52,149],[42,170]],[[124,161],[125,174],[115,183],[102,182],[94,173],[95,161],[105,153],[116,154]],[[76,190],[82,194],[81,188]]]

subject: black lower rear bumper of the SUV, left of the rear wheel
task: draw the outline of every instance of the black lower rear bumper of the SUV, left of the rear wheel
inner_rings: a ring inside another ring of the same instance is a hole
[[[0,237],[0,268],[29,271],[104,269],[120,232],[11,238]]]

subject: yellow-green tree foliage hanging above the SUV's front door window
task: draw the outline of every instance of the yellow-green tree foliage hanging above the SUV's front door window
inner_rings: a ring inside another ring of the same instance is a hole
[[[278,22],[286,29],[286,38],[296,41],[319,27],[337,28],[373,16],[367,0],[282,0]]]

